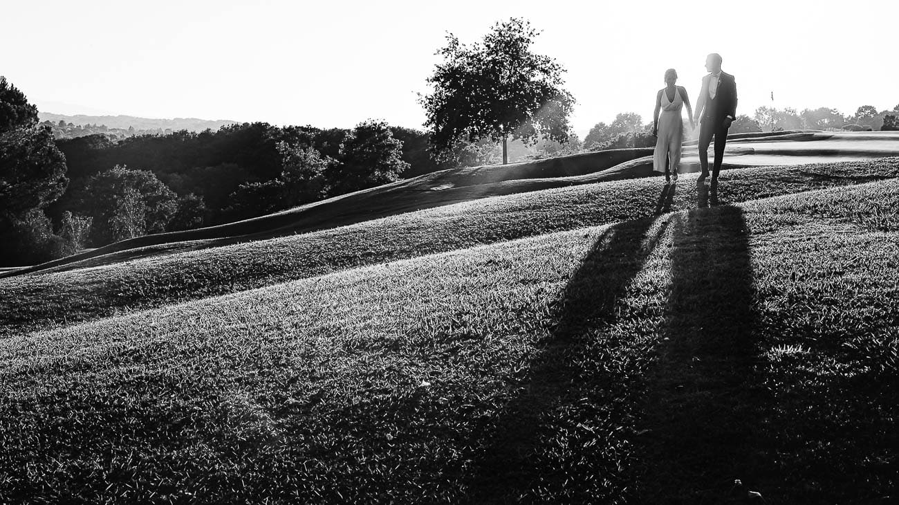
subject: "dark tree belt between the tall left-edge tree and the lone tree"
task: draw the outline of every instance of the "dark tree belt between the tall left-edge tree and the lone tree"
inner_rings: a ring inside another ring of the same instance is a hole
[[[87,244],[212,226],[440,170],[420,131],[234,124],[218,131],[59,139],[70,190],[48,208],[91,217]]]

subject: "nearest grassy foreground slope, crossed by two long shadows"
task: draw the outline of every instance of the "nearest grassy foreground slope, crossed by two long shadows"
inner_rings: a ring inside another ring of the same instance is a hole
[[[692,208],[5,339],[0,496],[890,502],[899,217],[864,202],[897,195]]]

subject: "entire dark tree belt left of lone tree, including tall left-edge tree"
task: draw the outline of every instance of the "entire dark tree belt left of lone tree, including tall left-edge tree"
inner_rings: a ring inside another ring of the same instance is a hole
[[[138,235],[261,216],[440,170],[429,136],[234,124],[115,140],[54,139],[0,79],[0,265],[33,264]]]

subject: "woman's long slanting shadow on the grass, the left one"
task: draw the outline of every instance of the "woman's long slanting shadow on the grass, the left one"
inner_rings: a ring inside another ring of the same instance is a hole
[[[660,197],[664,201],[667,189]],[[633,394],[633,364],[612,356],[603,330],[616,321],[620,301],[665,235],[669,217],[628,221],[593,245],[557,306],[554,332],[528,363],[525,377],[485,433],[467,472],[472,503],[603,502],[620,496],[627,452],[618,406]],[[610,400],[611,399],[611,400]],[[610,406],[610,405],[615,406]],[[597,443],[597,439],[603,439]]]

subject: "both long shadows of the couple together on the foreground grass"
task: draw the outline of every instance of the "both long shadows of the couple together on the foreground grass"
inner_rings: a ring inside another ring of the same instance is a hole
[[[675,191],[666,186],[657,213],[670,210]],[[708,190],[698,199],[717,203]],[[670,261],[670,286],[636,280],[651,256],[651,268]],[[742,209],[610,227],[557,310],[554,332],[469,467],[470,501],[723,502],[733,476],[747,475],[743,421],[752,413]]]

